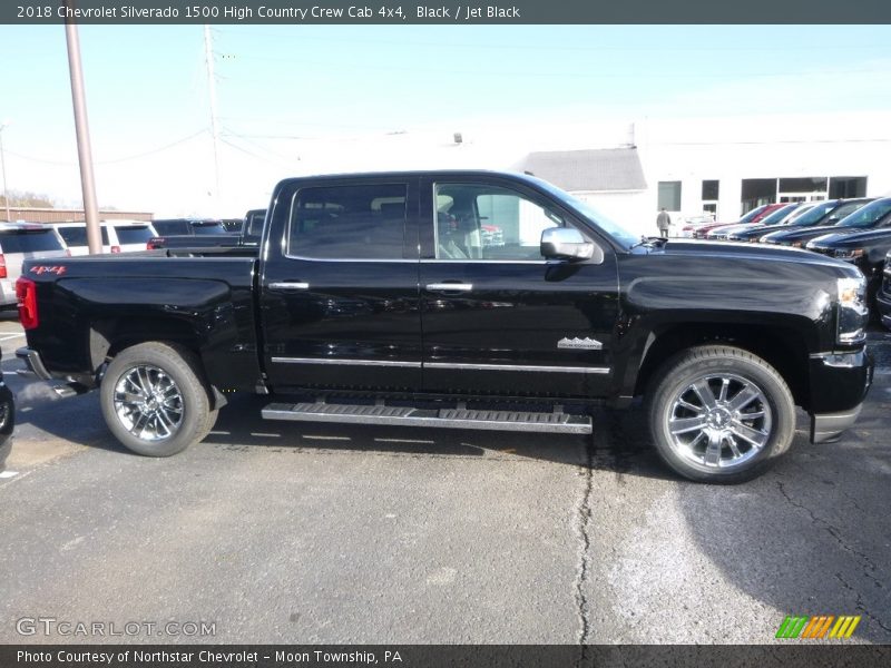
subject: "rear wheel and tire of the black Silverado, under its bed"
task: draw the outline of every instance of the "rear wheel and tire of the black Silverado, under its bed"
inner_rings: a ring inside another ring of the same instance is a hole
[[[102,377],[106,424],[128,450],[170,456],[207,435],[216,421],[197,357],[175,344],[140,343],[118,353]]]

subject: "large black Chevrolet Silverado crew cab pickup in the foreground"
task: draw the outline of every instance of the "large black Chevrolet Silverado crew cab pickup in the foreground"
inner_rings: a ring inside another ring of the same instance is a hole
[[[502,243],[484,244],[497,226]],[[589,433],[643,396],[693,480],[850,426],[872,377],[864,279],[799,249],[640,238],[531,176],[283,180],[260,248],[27,261],[41,379],[99,389],[140,454],[200,441],[226,394],[274,420]]]

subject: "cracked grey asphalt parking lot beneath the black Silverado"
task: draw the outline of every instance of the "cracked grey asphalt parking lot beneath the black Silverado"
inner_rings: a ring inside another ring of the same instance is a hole
[[[762,644],[787,615],[891,642],[891,334],[871,338],[842,442],[809,444],[802,415],[774,471],[707,487],[666,472],[634,410],[555,436],[300,426],[239,396],[206,442],[140,458],[95,395],[12,373],[7,318],[0,642],[121,639],[20,621],[51,618],[136,621],[135,642]]]

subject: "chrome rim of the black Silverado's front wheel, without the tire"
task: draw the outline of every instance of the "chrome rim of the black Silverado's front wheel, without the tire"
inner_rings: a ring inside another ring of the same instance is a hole
[[[773,419],[764,391],[751,380],[703,375],[675,396],[666,419],[670,446],[687,462],[732,469],[767,444]]]

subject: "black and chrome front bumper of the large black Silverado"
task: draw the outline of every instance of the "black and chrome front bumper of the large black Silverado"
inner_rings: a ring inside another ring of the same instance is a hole
[[[811,355],[811,442],[836,440],[856,421],[872,385],[873,361],[864,347]]]

